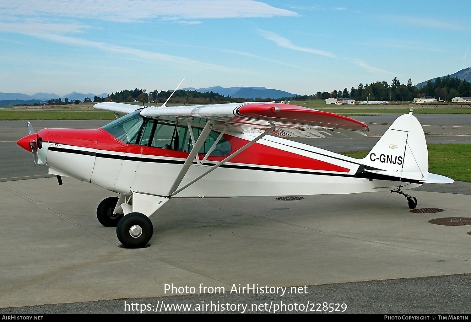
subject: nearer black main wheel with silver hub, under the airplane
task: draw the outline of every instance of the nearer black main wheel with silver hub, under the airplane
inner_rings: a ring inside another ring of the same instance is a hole
[[[149,217],[140,212],[131,212],[122,217],[116,226],[116,236],[125,247],[143,248],[150,241],[154,226]]]

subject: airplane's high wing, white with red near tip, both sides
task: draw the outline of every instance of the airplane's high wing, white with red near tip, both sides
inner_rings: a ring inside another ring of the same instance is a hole
[[[115,113],[131,113],[138,105],[98,103],[95,108]],[[366,136],[368,126],[349,117],[317,111],[307,107],[269,103],[229,103],[171,107],[147,106],[141,115],[170,122],[190,122],[203,126],[208,120],[214,129],[227,127],[235,132],[264,132],[276,126],[270,135],[277,137],[352,137]]]

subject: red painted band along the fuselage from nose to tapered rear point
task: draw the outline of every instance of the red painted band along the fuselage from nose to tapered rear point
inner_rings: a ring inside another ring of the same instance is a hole
[[[49,137],[44,141],[51,143],[81,146],[103,151],[113,151],[122,153],[133,153],[153,156],[163,156],[171,158],[186,159],[187,152],[164,150],[161,148],[125,144],[104,129],[48,129]],[[43,130],[41,130],[43,131]],[[41,131],[39,132],[41,134]],[[42,133],[47,133],[44,131]],[[249,141],[239,137],[233,137],[225,134],[224,137],[229,141],[232,147],[231,153],[247,144]],[[199,154],[200,160],[204,154]],[[208,161],[222,161],[227,156],[210,156]],[[349,169],[337,166],[335,164],[311,159],[309,157],[296,153],[276,149],[271,146],[255,143],[248,147],[242,153],[239,153],[230,160],[231,163],[244,163],[258,166],[273,166],[283,168],[310,169],[321,171],[349,172]]]

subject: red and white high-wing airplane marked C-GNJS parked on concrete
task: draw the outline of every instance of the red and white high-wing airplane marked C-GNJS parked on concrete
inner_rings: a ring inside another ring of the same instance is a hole
[[[117,119],[100,129],[41,129],[18,145],[49,173],[118,193],[101,201],[97,218],[116,226],[120,242],[145,247],[149,217],[172,198],[364,193],[404,195],[423,183],[452,183],[429,173],[422,126],[400,116],[364,159],[284,137],[345,137],[368,127],[351,118],[279,103],[138,107],[99,103]],[[119,114],[127,114],[119,117]],[[118,118],[119,117],[119,118]]]

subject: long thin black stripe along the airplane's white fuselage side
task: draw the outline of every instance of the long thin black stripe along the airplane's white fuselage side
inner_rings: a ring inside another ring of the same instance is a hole
[[[106,159],[155,162],[155,163],[170,163],[170,164],[184,164],[185,163],[185,161],[180,161],[180,160],[154,159],[154,158],[131,157],[131,156],[114,155],[114,154],[106,154],[106,153],[95,153],[95,152],[88,152],[88,151],[82,151],[82,150],[59,148],[55,146],[49,146],[48,149],[49,151],[90,155],[90,156],[96,156],[98,158],[106,158]],[[208,162],[203,163],[203,165],[207,165],[207,166],[215,166],[216,164],[217,163],[208,163]],[[302,171],[302,170],[292,170],[292,169],[260,168],[260,167],[235,165],[235,164],[223,164],[220,167],[228,168],[228,169],[245,169],[245,170],[258,170],[258,171],[271,171],[271,172],[284,172],[284,173],[300,173],[300,174],[331,176],[331,177],[359,177],[359,178],[367,178],[367,179],[374,179],[374,180],[398,181],[397,177],[390,177],[390,176],[385,176],[385,175],[371,173],[371,172],[364,172],[363,171],[364,166],[359,167],[357,170],[357,173],[353,175],[343,174],[343,173],[325,173],[325,172]],[[402,181],[407,182],[407,183],[419,183],[419,181],[417,180],[406,179]]]

